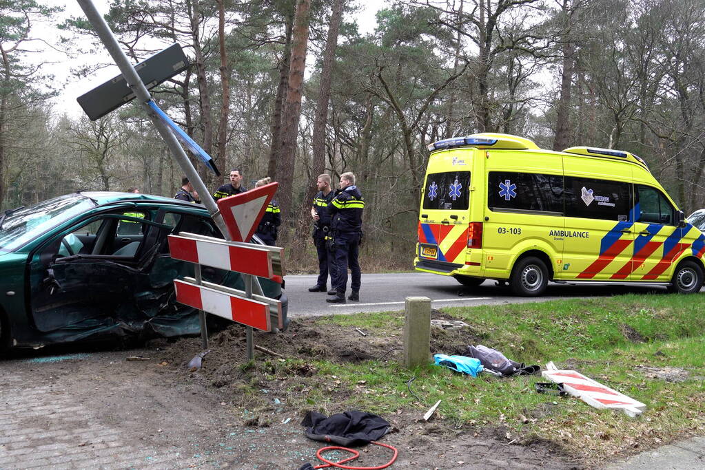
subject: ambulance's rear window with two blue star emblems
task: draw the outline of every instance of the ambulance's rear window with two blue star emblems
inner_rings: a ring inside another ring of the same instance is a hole
[[[467,210],[470,207],[470,172],[429,173],[424,188],[424,209]]]

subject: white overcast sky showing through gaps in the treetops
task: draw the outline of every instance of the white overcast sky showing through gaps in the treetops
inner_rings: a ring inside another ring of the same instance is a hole
[[[358,1],[362,4],[362,8],[360,9],[360,12],[355,15],[355,19],[360,27],[360,32],[363,34],[372,32],[376,27],[375,13],[379,10],[379,8],[381,8],[381,6],[386,4],[386,1]],[[75,0],[44,0],[44,2],[45,4],[63,6],[65,9],[63,17],[65,18],[83,16],[83,11]],[[96,6],[99,13],[103,14],[107,13],[108,3],[108,0],[93,0],[93,4]],[[56,21],[56,23],[59,23],[59,21]],[[44,30],[42,37],[45,41],[51,44],[52,41],[56,41],[56,31],[52,32],[51,28],[47,28]],[[71,68],[78,68],[81,65],[92,63],[112,62],[107,52],[102,53],[100,56],[82,55],[78,58],[72,59],[66,56],[64,56],[63,59],[57,59],[57,56],[60,56],[60,54],[57,53],[51,53],[51,55],[53,56],[52,60],[55,60],[55,63],[52,63],[49,67],[51,68],[51,73],[56,76],[55,83],[66,83],[66,87],[63,89],[61,96],[59,96],[59,98],[55,101],[57,113],[67,113],[73,117],[80,115],[83,111],[80,106],[78,106],[76,98],[84,94],[86,91],[97,87],[99,84],[110,80],[111,77],[119,75],[120,73],[117,66],[113,65],[109,68],[98,70],[90,77],[78,78],[71,75]]]

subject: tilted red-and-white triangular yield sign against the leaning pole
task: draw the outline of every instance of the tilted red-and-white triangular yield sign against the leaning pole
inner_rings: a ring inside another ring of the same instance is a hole
[[[278,183],[269,183],[245,193],[219,199],[218,208],[233,241],[250,241]]]

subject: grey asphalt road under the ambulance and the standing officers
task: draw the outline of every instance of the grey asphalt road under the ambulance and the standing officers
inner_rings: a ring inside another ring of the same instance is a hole
[[[387,312],[404,310],[405,298],[428,297],[431,306],[460,307],[470,305],[496,305],[502,303],[536,302],[553,298],[615,296],[620,293],[666,292],[664,287],[603,286],[549,284],[546,296],[522,298],[514,296],[507,287],[495,281],[484,281],[479,287],[467,288],[452,277],[420,272],[391,274],[362,274],[360,302],[345,304],[326,303],[326,293],[309,292],[316,284],[314,274],[287,276],[286,295],[289,298],[289,317],[304,315],[330,315],[331,313]],[[349,282],[349,281],[348,281]],[[348,290],[348,293],[350,291]]]

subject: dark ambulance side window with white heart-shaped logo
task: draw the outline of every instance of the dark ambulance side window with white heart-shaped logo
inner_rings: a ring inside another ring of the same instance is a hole
[[[608,179],[565,177],[565,215],[627,222],[633,206],[630,186]]]

